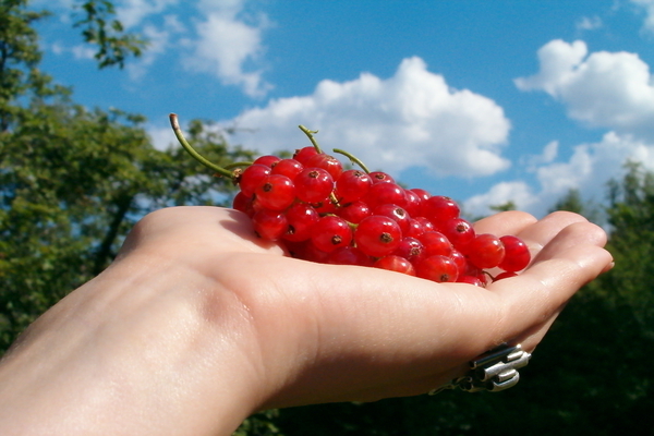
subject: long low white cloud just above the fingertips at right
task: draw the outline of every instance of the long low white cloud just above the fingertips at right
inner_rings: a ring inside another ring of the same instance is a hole
[[[512,201],[518,209],[543,216],[571,189],[601,202],[605,198],[606,183],[621,178],[628,160],[654,170],[654,143],[608,132],[597,143],[576,146],[567,161],[542,162],[532,168],[537,181],[535,189],[522,181],[502,182],[463,202],[464,209],[472,215],[487,215],[491,213],[488,205]]]

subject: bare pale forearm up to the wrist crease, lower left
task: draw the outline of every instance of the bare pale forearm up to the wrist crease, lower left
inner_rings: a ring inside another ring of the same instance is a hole
[[[0,434],[231,434],[256,392],[240,315],[189,277],[131,261],[61,301],[0,364]]]

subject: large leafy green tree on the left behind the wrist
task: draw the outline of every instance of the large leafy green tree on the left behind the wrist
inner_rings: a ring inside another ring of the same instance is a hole
[[[0,0],[0,350],[101,271],[144,214],[161,206],[222,204],[233,190],[229,180],[206,174],[181,147],[156,149],[143,117],[75,105],[71,89],[38,70],[32,24],[48,14],[26,5]],[[89,16],[99,21],[107,11]],[[124,47],[119,41],[104,44]],[[112,52],[99,51],[100,66],[111,64],[100,59],[118,56]],[[189,134],[213,161],[252,158],[247,150],[229,148],[208,122],[191,122]]]

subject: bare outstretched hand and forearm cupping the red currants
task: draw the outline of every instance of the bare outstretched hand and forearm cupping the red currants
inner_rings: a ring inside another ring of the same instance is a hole
[[[263,409],[425,393],[501,342],[533,352],[613,265],[574,214],[475,229],[519,235],[532,265],[486,289],[439,284],[290,258],[230,209],[150,214],[0,362],[0,434],[230,435]]]

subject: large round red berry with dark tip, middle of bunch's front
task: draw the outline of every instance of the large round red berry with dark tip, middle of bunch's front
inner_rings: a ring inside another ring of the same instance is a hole
[[[356,246],[373,257],[392,253],[402,240],[400,226],[388,217],[373,215],[364,218],[354,231]]]

